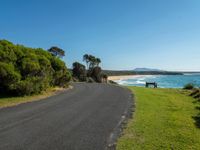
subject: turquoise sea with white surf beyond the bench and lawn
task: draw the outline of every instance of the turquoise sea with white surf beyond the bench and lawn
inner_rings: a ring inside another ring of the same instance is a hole
[[[200,87],[200,74],[185,75],[152,75],[133,79],[117,80],[117,83],[128,86],[145,86],[146,82],[157,82],[160,88],[183,88],[184,85],[192,83]]]

